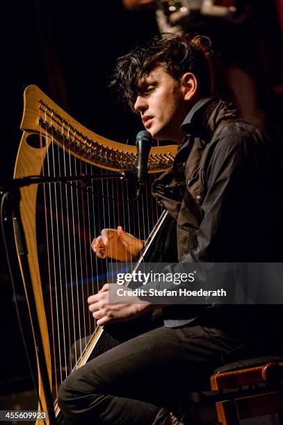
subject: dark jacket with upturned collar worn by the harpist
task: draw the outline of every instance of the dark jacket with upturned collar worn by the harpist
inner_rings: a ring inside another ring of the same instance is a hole
[[[181,129],[186,136],[174,164],[152,187],[172,217],[161,236],[159,260],[177,260],[177,244],[184,263],[281,262],[282,176],[268,140],[216,98],[197,102]],[[270,310],[275,311],[273,306],[178,305],[163,313],[167,326],[197,317],[239,330],[248,326],[247,318],[254,329]]]

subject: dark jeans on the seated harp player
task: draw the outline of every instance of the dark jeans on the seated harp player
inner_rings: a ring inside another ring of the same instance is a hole
[[[154,329],[98,356],[59,390],[63,423],[165,424],[180,417],[188,392],[209,389],[213,369],[248,356],[240,339],[195,325]]]

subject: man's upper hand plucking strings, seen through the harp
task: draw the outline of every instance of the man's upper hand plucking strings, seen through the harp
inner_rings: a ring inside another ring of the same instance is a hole
[[[92,249],[99,258],[133,261],[143,249],[144,242],[123,231],[121,226],[104,228],[102,234],[92,240]]]

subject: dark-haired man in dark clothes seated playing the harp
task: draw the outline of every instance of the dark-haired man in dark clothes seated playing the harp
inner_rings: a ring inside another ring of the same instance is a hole
[[[207,38],[163,35],[120,58],[115,69],[113,84],[152,137],[179,144],[174,165],[153,187],[171,216],[162,255],[195,264],[278,260],[277,212],[262,201],[266,190],[275,194],[268,144],[232,106],[211,96],[208,57]],[[93,243],[97,256],[121,261],[142,248],[120,226]],[[88,303],[99,325],[156,307],[109,303],[108,285]],[[251,307],[164,307],[165,326],[107,351],[65,380],[58,399],[63,415],[81,424],[178,424],[188,392],[208,385],[213,369],[270,353],[267,337],[257,336],[270,312],[253,315]]]

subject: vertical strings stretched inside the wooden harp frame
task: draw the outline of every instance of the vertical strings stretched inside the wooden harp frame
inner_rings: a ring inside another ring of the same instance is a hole
[[[97,167],[82,163],[71,153],[79,135],[70,124],[57,124],[55,118],[54,113],[47,115],[45,111],[47,152],[42,175],[97,174]],[[63,149],[56,143],[58,133],[63,136]],[[41,131],[40,139],[43,146]],[[111,175],[108,170],[99,170],[102,176]],[[146,183],[147,188],[149,184]],[[90,190],[84,188],[82,182],[43,185],[49,287],[47,310],[50,313],[48,323],[56,394],[60,382],[68,374],[71,348],[77,363],[86,348],[86,336],[93,332],[93,328],[97,329],[96,321],[88,311],[87,298],[102,287],[104,281],[99,276],[103,276],[104,270],[106,281],[113,280],[109,275],[115,272],[117,267],[114,266],[119,263],[113,258],[106,262],[99,260],[92,253],[91,240],[102,228],[117,229],[119,225],[136,238],[146,240],[159,216],[154,199],[145,192],[132,201],[135,192],[131,182],[108,178],[92,181]]]

